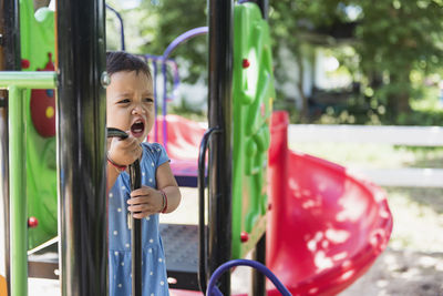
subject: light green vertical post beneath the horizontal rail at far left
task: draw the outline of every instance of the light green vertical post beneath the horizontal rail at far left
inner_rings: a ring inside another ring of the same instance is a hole
[[[23,91],[9,89],[11,295],[28,295],[28,225]],[[24,184],[24,185],[23,185]]]

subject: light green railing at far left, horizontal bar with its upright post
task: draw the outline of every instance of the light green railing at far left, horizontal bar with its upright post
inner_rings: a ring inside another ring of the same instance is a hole
[[[0,89],[9,91],[11,295],[28,295],[24,93],[29,89],[54,89],[55,84],[54,72],[0,72]]]

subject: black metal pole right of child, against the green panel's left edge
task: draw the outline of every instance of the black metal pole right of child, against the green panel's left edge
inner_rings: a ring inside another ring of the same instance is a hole
[[[209,145],[209,242],[210,274],[230,259],[231,249],[231,84],[233,0],[209,0],[209,127],[219,127]],[[220,278],[220,292],[230,295],[230,274]]]

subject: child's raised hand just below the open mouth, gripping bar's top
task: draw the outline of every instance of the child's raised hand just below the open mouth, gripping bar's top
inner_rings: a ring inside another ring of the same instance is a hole
[[[109,157],[119,165],[130,165],[142,156],[143,149],[134,136],[125,140],[113,137],[107,151]]]

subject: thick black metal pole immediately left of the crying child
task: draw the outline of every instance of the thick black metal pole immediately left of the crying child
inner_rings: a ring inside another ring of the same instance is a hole
[[[62,295],[107,295],[104,0],[58,0]]]

